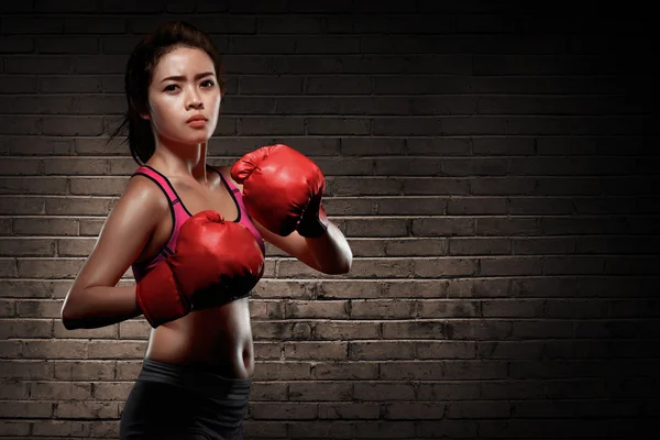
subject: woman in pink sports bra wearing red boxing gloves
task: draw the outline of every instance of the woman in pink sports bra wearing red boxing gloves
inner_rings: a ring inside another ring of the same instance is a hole
[[[62,309],[67,329],[140,315],[152,326],[121,439],[242,439],[254,372],[249,295],[263,274],[264,240],[326,274],[351,267],[311,161],[276,145],[231,169],[206,163],[224,94],[220,72],[210,38],[185,22],[142,40],[127,66],[119,130],[128,124],[141,166]],[[117,287],[129,266],[136,285]]]

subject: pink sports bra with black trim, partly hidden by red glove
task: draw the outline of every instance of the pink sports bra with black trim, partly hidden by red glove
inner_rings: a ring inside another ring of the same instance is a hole
[[[218,173],[220,179],[229,190],[229,194],[231,194],[231,197],[239,212],[238,218],[233,220],[233,222],[242,223],[244,227],[246,227],[256,239],[262,252],[265,254],[264,240],[262,239],[256,228],[254,228],[252,221],[250,221],[250,215],[245,210],[245,205],[243,204],[243,195],[241,194],[241,190],[234,185],[232,185],[231,182],[227,180],[224,176],[222,176],[222,173],[220,173],[218,169],[216,169],[212,166],[208,166],[208,168]],[[158,188],[161,188],[161,190],[165,194],[169,202],[169,212],[172,213],[173,219],[169,240],[165,245],[163,245],[163,248],[161,248],[158,254],[151,261],[135,262],[131,265],[131,268],[133,271],[133,277],[138,283],[147,273],[150,273],[150,271],[154,268],[160,262],[167,258],[174,253],[174,251],[176,250],[176,239],[178,237],[179,228],[182,227],[182,224],[184,224],[186,220],[193,217],[193,215],[190,213],[190,211],[188,211],[182,199],[176,194],[176,190],[174,189],[174,186],[172,186],[169,179],[160,172],[157,172],[155,168],[148,165],[141,166],[135,170],[135,173],[133,173],[131,177],[136,175],[148,177],[158,186]]]

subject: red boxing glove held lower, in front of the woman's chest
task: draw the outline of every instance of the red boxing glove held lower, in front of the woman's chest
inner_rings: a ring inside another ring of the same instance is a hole
[[[263,271],[264,255],[248,228],[207,210],[182,224],[176,252],[138,283],[135,296],[156,328],[244,296]]]

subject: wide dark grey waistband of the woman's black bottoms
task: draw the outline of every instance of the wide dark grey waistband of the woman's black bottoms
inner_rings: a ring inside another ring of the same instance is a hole
[[[202,369],[166,364],[151,359],[144,360],[138,381],[161,382],[207,397],[231,400],[246,399],[252,385],[251,378],[224,377]]]

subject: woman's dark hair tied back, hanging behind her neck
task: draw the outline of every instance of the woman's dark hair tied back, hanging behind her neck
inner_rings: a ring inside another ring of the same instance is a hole
[[[110,143],[128,125],[129,148],[139,165],[144,165],[156,148],[151,122],[140,116],[148,108],[148,86],[154,69],[164,55],[182,46],[202,50],[210,56],[216,67],[218,85],[221,92],[224,92],[220,53],[206,33],[187,22],[170,21],[161,24],[153,33],[146,35],[138,43],[127,63],[124,90],[129,109],[121,125],[108,140]]]

